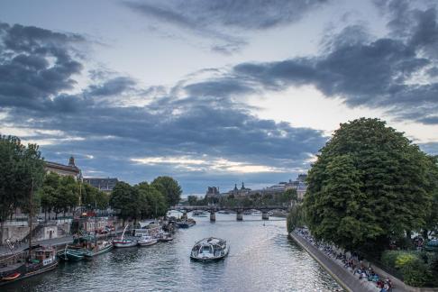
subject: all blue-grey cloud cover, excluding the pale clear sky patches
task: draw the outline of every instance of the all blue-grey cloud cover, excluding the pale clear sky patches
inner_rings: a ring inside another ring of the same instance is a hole
[[[41,141],[48,160],[62,162],[73,154],[91,176],[132,183],[174,176],[187,194],[213,184],[224,190],[242,180],[251,185],[293,178],[309,167],[328,137],[251,114],[249,96],[269,98],[288,87],[314,86],[351,108],[438,124],[436,8],[413,8],[405,1],[376,4],[388,19],[388,35],[374,37],[354,23],[326,39],[319,54],[201,69],[202,77],[193,73],[167,87],[89,68],[91,52],[78,49],[87,42],[79,34],[0,23],[2,133],[26,132],[22,138]],[[244,44],[241,32],[296,23],[330,2],[274,1],[269,9],[260,1],[123,5],[222,41],[215,50],[229,53]],[[421,146],[438,153],[436,141]]]

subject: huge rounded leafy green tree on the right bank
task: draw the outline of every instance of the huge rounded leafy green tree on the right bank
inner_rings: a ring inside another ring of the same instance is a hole
[[[308,227],[317,239],[363,251],[419,231],[431,210],[428,160],[385,122],[342,123],[309,171]]]

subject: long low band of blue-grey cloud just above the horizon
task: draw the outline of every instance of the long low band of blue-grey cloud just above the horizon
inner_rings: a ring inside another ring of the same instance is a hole
[[[219,178],[223,184],[231,186],[240,180],[275,183],[291,178],[308,167],[310,155],[317,152],[326,139],[316,130],[260,120],[231,103],[218,106],[205,99],[194,103],[193,99],[187,97],[178,103],[164,99],[157,101],[160,105],[144,107],[81,105],[74,113],[53,110],[44,116],[16,108],[9,112],[11,119],[5,119],[5,123],[14,122],[41,132],[64,132],[64,135],[53,136],[54,145],[41,148],[44,155],[49,160],[59,161],[78,153],[79,157],[84,157],[78,163],[87,175],[118,176],[138,182],[167,174],[178,178],[183,187],[187,187],[186,192],[202,192],[207,181]],[[76,106],[63,99],[57,100],[68,108]],[[23,122],[18,123],[17,118]],[[24,122],[29,118],[32,123]],[[75,140],[75,137],[84,140]],[[47,135],[32,138],[50,140]],[[87,156],[93,156],[93,159],[89,160]],[[131,160],[162,157],[177,160],[184,157],[205,163],[227,160],[280,169],[280,173],[269,170],[240,173],[226,167],[221,172],[212,169],[211,165],[187,165],[184,161],[141,165]],[[92,172],[95,170],[100,172]]]

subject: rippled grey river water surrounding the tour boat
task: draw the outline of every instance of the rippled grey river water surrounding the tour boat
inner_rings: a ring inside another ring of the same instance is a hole
[[[216,214],[175,233],[173,242],[113,250],[94,260],[1,287],[2,291],[334,291],[342,290],[306,251],[287,238],[286,222]],[[230,244],[218,262],[189,259],[193,244],[214,236]]]

